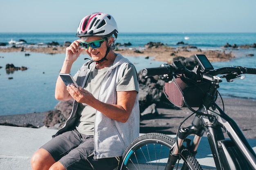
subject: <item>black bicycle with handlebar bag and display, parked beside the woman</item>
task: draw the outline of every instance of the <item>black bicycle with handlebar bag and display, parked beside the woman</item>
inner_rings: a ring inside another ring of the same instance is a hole
[[[124,152],[121,170],[202,170],[195,157],[204,133],[217,170],[256,170],[254,150],[236,122],[216,104],[221,78],[227,82],[243,79],[242,74],[256,74],[256,68],[231,66],[214,70],[205,55],[195,58],[198,65],[192,71],[180,61],[142,70],[145,77],[159,75],[168,100],[175,106],[189,108],[193,112],[189,117],[194,118],[189,127],[182,127],[186,119],[181,123],[175,138],[161,133],[136,138]]]

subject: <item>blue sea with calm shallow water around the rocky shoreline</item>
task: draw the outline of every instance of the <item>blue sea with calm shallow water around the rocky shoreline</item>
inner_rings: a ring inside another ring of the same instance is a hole
[[[4,42],[7,46],[12,39],[25,40],[27,43],[21,46],[42,46],[49,42],[58,42],[62,45],[64,42],[76,40],[74,33],[0,33],[0,43]],[[187,37],[185,39],[185,37]],[[183,41],[185,44],[197,46],[199,49],[218,49],[226,43],[252,45],[256,43],[256,33],[119,33],[116,42],[121,44],[130,42],[132,45],[128,48],[144,48],[148,42],[162,42],[168,46],[177,47],[177,42]],[[33,45],[31,45],[33,44]],[[39,45],[40,44],[40,45]],[[16,45],[19,46],[19,45]],[[232,49],[226,49],[226,52]],[[236,59],[229,62],[214,62],[214,68],[225,66],[245,66],[256,68],[256,49],[238,49],[233,50],[236,53]],[[16,115],[34,112],[43,112],[53,110],[59,102],[54,98],[54,89],[56,78],[63,64],[65,54],[49,55],[44,53],[11,52],[0,53],[0,115]],[[248,54],[254,56],[248,57]],[[85,54],[80,56],[74,63],[71,74],[84,63],[83,58],[88,57]],[[149,60],[144,57],[125,56],[133,62],[140,71],[142,68],[158,67],[163,62]],[[14,66],[26,66],[26,71],[14,71],[7,73],[6,64]],[[13,79],[8,79],[13,77]],[[256,99],[256,75],[246,75],[243,80],[235,82],[223,82],[220,84],[219,92],[222,97],[241,97],[246,99]]]

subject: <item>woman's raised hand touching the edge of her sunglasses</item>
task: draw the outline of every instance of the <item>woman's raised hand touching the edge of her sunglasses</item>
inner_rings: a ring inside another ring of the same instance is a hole
[[[79,43],[81,40],[75,40],[66,48],[66,57],[65,60],[68,62],[75,62],[78,56],[81,54],[81,52],[84,50],[83,47],[79,46]]]

